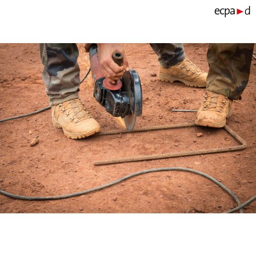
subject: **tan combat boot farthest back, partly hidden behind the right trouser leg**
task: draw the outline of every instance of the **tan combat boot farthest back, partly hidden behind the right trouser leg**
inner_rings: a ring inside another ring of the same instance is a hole
[[[189,59],[184,59],[171,67],[159,69],[159,79],[163,82],[180,81],[190,87],[206,87],[207,73],[201,71]]]

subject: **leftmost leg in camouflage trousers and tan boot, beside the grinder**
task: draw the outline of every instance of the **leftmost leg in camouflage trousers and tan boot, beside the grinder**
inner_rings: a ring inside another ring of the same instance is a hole
[[[40,44],[46,94],[52,122],[70,139],[81,139],[100,131],[99,123],[79,99],[78,47],[76,44]]]

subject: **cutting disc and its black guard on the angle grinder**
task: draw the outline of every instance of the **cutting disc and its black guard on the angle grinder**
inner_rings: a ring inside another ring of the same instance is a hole
[[[125,126],[128,131],[132,131],[136,122],[136,117],[142,114],[142,89],[139,75],[134,69],[125,71],[122,76],[122,91],[127,92],[130,108],[124,117]]]

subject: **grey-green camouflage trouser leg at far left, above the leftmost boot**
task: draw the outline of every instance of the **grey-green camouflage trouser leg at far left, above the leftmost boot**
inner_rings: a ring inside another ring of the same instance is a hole
[[[79,66],[76,44],[40,44],[42,77],[50,105],[78,98]]]

